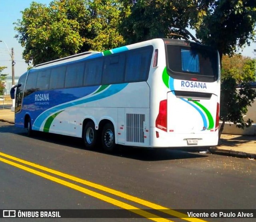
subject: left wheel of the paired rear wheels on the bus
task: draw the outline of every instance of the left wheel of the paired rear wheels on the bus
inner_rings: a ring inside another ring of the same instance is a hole
[[[97,141],[97,131],[92,121],[86,123],[84,127],[84,145],[86,149],[94,149]]]

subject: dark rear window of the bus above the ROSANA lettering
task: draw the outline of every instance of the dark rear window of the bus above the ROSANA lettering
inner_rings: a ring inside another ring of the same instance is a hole
[[[208,81],[218,79],[218,54],[216,50],[196,44],[195,46],[167,44],[166,49],[168,73],[174,75],[174,78],[197,78],[204,81],[207,81],[207,78]]]

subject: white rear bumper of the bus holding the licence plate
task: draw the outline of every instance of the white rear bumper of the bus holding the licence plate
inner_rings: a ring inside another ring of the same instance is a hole
[[[202,133],[165,132],[151,128],[150,147],[206,147],[218,145],[218,130]]]

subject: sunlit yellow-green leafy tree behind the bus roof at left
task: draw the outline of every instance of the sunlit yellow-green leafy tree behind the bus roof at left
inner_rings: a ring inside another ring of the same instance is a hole
[[[117,0],[54,0],[47,7],[32,2],[22,11],[15,36],[33,65],[88,50],[123,44],[117,27],[122,4]]]

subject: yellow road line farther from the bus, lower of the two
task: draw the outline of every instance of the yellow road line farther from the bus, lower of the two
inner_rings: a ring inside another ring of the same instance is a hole
[[[78,186],[78,185],[76,185],[76,184],[72,184],[72,183],[70,183],[70,182],[67,182],[67,181],[65,181],[65,180],[56,178],[56,177],[54,177],[54,176],[50,176],[50,175],[45,174],[45,173],[43,173],[43,172],[40,172],[40,171],[31,169],[31,168],[25,167],[25,166],[20,165],[20,164],[18,164],[18,163],[14,163],[14,162],[12,162],[12,161],[8,161],[8,160],[3,159],[3,158],[1,158],[1,157],[0,157],[0,161],[2,161],[2,162],[4,162],[4,163],[7,163],[7,164],[9,164],[9,165],[12,165],[12,166],[14,166],[14,167],[20,168],[20,169],[22,169],[22,170],[31,172],[31,173],[33,173],[33,174],[36,174],[36,175],[41,176],[41,177],[43,177],[43,178],[46,178],[46,179],[48,179],[48,180],[52,180],[52,181],[54,181],[54,182],[56,182],[56,183],[59,183],[59,184],[62,184],[62,185],[64,185],[64,186],[70,187],[70,188],[72,188],[72,189],[74,189],[74,190],[78,190],[78,191],[80,191],[80,192],[82,192],[82,193],[84,193],[84,194],[88,194],[88,195],[90,195],[90,196],[93,196],[93,197],[95,197],[95,198],[98,198],[98,199],[100,199],[100,200],[103,200],[103,201],[105,201],[105,202],[108,202],[108,203],[113,204],[113,205],[115,205],[115,206],[118,206],[118,207],[120,207],[120,208],[129,210],[129,211],[131,211],[131,212],[134,212],[134,213],[136,213],[136,214],[139,214],[140,216],[143,216],[143,217],[148,218],[148,219],[150,219],[150,220],[154,220],[154,221],[156,221],[156,222],[171,222],[170,220],[167,220],[167,219],[164,219],[164,218],[160,218],[159,216],[156,216],[155,214],[151,214],[151,213],[149,213],[149,212],[146,212],[145,210],[141,210],[140,208],[137,208],[137,207],[132,206],[132,205],[130,205],[130,204],[126,204],[126,203],[121,202],[121,201],[119,201],[119,200],[115,200],[114,198],[105,196],[105,195],[103,195],[103,194],[99,194],[99,193],[94,192],[94,191],[92,191],[92,190],[88,190],[88,189],[86,189],[86,188],[84,188],[84,187]]]

